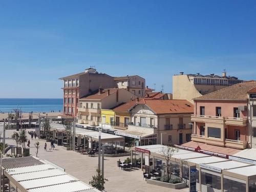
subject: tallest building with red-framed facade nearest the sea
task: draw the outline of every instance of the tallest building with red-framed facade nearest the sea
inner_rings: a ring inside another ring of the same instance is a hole
[[[116,86],[114,77],[98,73],[93,68],[59,79],[63,80],[63,114],[68,116],[77,116],[79,98],[94,93],[99,87],[106,89]]]

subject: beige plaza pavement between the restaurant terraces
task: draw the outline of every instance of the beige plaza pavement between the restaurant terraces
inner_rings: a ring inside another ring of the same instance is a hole
[[[0,125],[1,126],[1,125]],[[15,130],[6,131],[6,143],[16,145],[16,142],[11,139],[11,135]],[[34,146],[35,140],[31,140],[31,136],[28,135],[31,141],[30,154],[35,156],[36,148]],[[95,169],[98,163],[98,156],[89,157],[87,155],[81,155],[77,152],[66,151],[62,146],[56,146],[54,151],[49,151],[50,143],[48,142],[48,152],[44,150],[43,141],[39,141],[38,158],[46,159],[66,169],[68,174],[80,179],[83,182],[89,183],[92,176],[95,175]],[[10,153],[10,151],[8,152]],[[143,180],[143,174],[140,169],[125,171],[117,167],[117,161],[124,160],[126,157],[105,157],[104,158],[104,176],[109,181],[105,184],[105,190],[108,192],[117,191],[147,191],[147,192],[187,192],[185,189],[169,189],[165,187],[155,186],[147,184]]]

